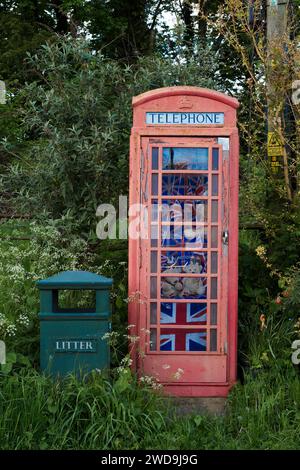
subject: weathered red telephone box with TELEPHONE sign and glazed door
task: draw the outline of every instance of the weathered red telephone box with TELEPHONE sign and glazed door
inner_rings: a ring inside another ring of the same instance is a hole
[[[197,87],[133,98],[131,356],[175,396],[226,396],[236,380],[238,106]]]

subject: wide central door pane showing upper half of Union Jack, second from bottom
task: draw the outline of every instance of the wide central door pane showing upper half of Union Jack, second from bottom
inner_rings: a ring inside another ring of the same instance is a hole
[[[162,302],[160,324],[206,325],[206,303]]]

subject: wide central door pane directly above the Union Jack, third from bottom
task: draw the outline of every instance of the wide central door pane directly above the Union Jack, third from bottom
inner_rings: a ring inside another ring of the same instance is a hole
[[[206,299],[207,279],[200,277],[162,277],[161,296],[165,299]]]

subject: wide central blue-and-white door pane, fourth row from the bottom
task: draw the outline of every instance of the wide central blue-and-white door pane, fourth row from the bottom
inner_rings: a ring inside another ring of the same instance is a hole
[[[168,273],[207,273],[207,253],[191,251],[163,251],[161,271]]]

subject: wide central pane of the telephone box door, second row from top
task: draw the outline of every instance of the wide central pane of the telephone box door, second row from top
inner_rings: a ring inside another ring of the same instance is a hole
[[[216,176],[216,175],[215,175]],[[205,175],[162,175],[163,196],[207,196],[208,177]]]

